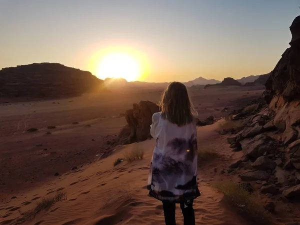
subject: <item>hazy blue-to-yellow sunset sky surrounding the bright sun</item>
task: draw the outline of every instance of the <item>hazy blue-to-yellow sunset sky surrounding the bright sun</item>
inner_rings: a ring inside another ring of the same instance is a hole
[[[263,74],[289,47],[299,6],[300,0],[0,0],[0,68],[59,62],[97,75],[95,55],[118,48],[142,58],[143,81]]]

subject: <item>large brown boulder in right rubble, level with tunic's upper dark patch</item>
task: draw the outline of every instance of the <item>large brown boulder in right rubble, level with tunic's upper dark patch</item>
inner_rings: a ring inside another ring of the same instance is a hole
[[[262,156],[264,152],[269,152],[273,143],[274,139],[263,133],[254,138],[246,138],[240,141],[242,151],[246,155],[255,158]]]

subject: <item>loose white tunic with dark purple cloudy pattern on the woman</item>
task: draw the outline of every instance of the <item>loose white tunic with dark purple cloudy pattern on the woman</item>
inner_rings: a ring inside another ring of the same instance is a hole
[[[150,132],[156,144],[148,177],[149,194],[175,202],[199,196],[195,122],[177,126],[156,112],[152,115]]]

